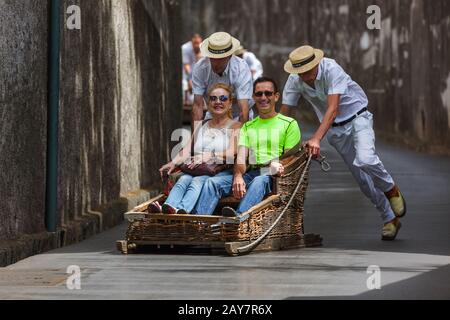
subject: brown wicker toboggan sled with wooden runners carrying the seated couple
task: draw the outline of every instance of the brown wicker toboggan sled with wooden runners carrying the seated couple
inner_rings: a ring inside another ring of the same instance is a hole
[[[319,235],[304,233],[303,204],[311,158],[304,151],[283,160],[285,174],[274,179],[274,192],[236,218],[217,215],[166,215],[147,212],[149,204],[164,201],[160,195],[125,214],[129,221],[126,240],[117,248],[124,254],[141,246],[202,246],[225,248],[230,255],[252,250],[281,250],[320,246]],[[217,207],[237,207],[229,197]],[[278,221],[277,221],[278,220]]]

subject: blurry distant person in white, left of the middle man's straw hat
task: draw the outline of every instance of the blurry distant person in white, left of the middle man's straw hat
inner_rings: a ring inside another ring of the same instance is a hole
[[[200,52],[200,44],[203,42],[199,34],[194,34],[191,41],[186,42],[181,47],[183,59],[183,100],[184,104],[191,105],[194,103],[194,95],[192,93],[192,69],[194,65],[202,58]]]

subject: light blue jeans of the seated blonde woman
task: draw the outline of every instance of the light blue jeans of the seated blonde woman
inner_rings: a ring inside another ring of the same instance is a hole
[[[188,174],[181,176],[165,203],[175,209],[191,213],[208,178],[209,176],[192,177]]]

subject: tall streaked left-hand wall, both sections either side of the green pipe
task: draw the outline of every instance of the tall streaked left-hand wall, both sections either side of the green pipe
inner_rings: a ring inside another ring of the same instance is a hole
[[[45,232],[48,3],[0,1],[0,240]],[[181,126],[181,40],[176,1],[61,3],[59,227],[84,224],[67,244],[117,224],[127,199],[159,187]],[[66,28],[73,4],[81,30]]]

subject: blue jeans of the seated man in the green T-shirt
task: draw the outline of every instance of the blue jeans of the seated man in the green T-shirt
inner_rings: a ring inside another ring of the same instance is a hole
[[[260,203],[266,195],[272,192],[271,176],[261,175],[260,170],[249,171],[244,175],[247,192],[236,210],[237,214],[248,211]],[[233,174],[217,175],[206,180],[200,198],[195,206],[195,213],[212,215],[222,197],[233,192]]]

